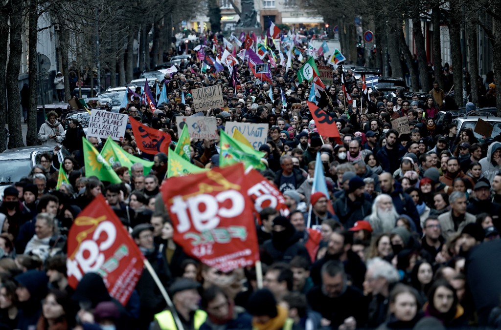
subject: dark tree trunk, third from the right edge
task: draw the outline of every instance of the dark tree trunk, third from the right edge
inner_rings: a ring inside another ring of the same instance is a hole
[[[449,38],[452,57],[454,100],[458,106],[463,105],[463,57],[461,52],[461,5],[450,1]],[[466,40],[465,40],[466,41]]]

